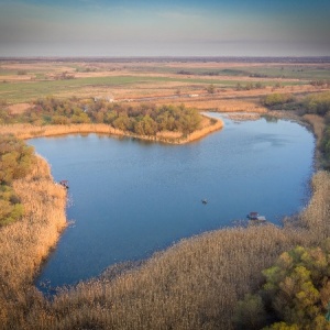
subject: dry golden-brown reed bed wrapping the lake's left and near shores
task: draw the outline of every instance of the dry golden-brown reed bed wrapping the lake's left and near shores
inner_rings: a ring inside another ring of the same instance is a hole
[[[238,300],[263,283],[262,270],[282,252],[330,234],[330,174],[319,172],[309,205],[283,228],[237,227],[186,239],[136,268],[106,273],[48,301],[33,278],[66,226],[66,193],[42,158],[14,189],[25,215],[0,229],[1,329],[230,330]]]

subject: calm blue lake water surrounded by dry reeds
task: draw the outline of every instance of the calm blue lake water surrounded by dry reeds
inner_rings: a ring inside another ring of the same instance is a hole
[[[231,226],[250,211],[280,224],[308,200],[315,141],[297,123],[261,119],[226,120],[222,131],[179,146],[96,134],[30,144],[56,180],[70,184],[67,216],[75,223],[37,279],[58,286]]]

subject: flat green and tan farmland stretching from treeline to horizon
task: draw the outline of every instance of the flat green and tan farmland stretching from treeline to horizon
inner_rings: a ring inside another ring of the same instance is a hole
[[[330,63],[320,61],[2,59],[0,99],[13,106],[50,96],[97,97],[132,105],[184,103],[200,110],[264,112],[263,95],[323,90],[311,85],[330,79]]]

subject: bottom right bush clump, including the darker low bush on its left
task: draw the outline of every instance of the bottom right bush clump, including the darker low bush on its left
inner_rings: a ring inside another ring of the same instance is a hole
[[[263,271],[265,284],[238,302],[237,329],[330,330],[330,239],[318,248],[284,252]]]

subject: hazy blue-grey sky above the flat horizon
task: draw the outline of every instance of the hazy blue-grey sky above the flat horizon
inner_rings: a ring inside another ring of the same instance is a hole
[[[0,56],[330,55],[330,0],[0,0]]]

